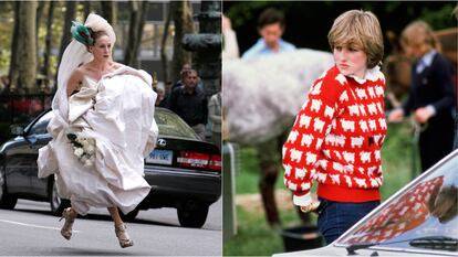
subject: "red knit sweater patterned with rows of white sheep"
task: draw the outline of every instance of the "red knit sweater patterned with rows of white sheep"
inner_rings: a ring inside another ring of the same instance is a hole
[[[284,184],[295,205],[311,203],[312,180],[326,200],[379,200],[384,88],[378,67],[358,79],[334,66],[316,79],[283,144]]]

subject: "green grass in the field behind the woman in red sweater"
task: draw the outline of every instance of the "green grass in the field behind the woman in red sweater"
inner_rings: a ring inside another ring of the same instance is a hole
[[[259,193],[259,168],[254,148],[241,148],[240,171],[236,175],[237,194]],[[388,199],[413,178],[412,171],[412,133],[408,124],[389,125],[388,133],[382,149],[384,184],[381,188],[382,200]],[[418,157],[417,159],[417,168]],[[280,167],[280,165],[279,165]],[[418,174],[418,171],[416,172]],[[282,172],[275,189],[285,190]],[[314,185],[315,188],[315,185]],[[292,210],[280,212],[283,227],[299,225],[300,221]],[[267,224],[264,213],[249,213],[237,207],[238,235],[225,243],[223,254],[227,256],[270,256],[282,253],[281,236]]]

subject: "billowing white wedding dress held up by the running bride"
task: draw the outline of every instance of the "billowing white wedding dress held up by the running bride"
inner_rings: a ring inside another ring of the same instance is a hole
[[[53,140],[39,152],[39,176],[56,175],[59,194],[85,215],[90,207],[134,210],[149,193],[144,157],[155,147],[156,93],[144,71],[122,66],[100,82],[85,76],[69,98],[67,117],[55,115],[48,126]],[[73,153],[69,131],[95,139],[94,165]]]

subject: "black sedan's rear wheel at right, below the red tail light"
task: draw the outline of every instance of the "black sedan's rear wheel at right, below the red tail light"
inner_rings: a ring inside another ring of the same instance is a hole
[[[177,214],[181,226],[200,228],[207,221],[208,205],[189,201],[177,208]]]

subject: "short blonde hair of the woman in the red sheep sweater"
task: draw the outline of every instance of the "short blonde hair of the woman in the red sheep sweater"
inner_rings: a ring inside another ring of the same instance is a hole
[[[327,34],[331,50],[335,46],[352,46],[367,55],[367,67],[377,66],[383,58],[383,34],[374,13],[362,10],[346,11],[337,19]]]

